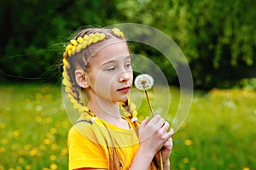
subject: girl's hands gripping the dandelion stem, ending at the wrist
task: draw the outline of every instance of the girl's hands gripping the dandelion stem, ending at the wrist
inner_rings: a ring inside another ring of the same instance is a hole
[[[167,132],[168,128],[169,123],[165,122],[161,116],[154,116],[151,120],[146,117],[139,129],[140,148],[147,152],[151,152],[154,156],[164,144],[168,144],[168,149],[166,148],[165,155],[169,156],[170,142],[166,143],[166,141],[171,138],[173,132]]]

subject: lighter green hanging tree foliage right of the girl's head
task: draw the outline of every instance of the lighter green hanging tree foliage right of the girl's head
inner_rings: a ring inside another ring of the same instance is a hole
[[[118,1],[123,20],[154,26],[182,48],[197,88],[228,88],[255,77],[256,3]]]

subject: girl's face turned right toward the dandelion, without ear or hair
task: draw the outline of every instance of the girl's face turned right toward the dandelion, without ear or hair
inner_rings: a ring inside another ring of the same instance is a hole
[[[86,73],[90,87],[97,98],[121,102],[128,99],[133,74],[131,55],[125,42],[116,42],[102,48],[90,59]]]

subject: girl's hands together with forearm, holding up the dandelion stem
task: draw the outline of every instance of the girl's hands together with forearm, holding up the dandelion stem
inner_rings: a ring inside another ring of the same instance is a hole
[[[169,123],[157,115],[151,120],[148,117],[141,123],[139,128],[140,146],[134,157],[130,169],[148,170],[155,154],[162,148],[164,151],[165,164],[164,169],[170,169],[169,156],[172,150],[172,131],[167,132]]]

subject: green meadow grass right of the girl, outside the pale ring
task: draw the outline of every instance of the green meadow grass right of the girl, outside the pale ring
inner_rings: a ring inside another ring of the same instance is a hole
[[[256,93],[195,93],[184,126],[175,135],[174,169],[256,169]]]

